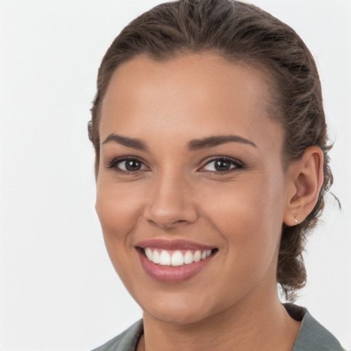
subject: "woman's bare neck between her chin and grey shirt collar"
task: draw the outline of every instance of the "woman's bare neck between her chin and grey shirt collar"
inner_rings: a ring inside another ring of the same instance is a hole
[[[163,323],[144,313],[141,342],[146,351],[291,351],[300,323],[288,315],[277,293],[258,300],[248,299],[191,324]]]

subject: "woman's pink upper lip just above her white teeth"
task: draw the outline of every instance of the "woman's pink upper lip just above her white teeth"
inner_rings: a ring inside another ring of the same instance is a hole
[[[146,247],[152,247],[161,250],[212,250],[215,247],[204,245],[201,243],[195,243],[189,240],[165,240],[165,239],[147,239],[140,241],[136,244],[136,247],[145,249]]]

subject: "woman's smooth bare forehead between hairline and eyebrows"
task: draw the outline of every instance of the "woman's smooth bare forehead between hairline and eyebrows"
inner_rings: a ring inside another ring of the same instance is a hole
[[[258,132],[279,134],[269,118],[270,90],[263,71],[211,53],[162,61],[137,56],[112,75],[101,107],[101,139],[110,132],[143,138],[145,130],[160,128],[178,138],[226,130],[251,139]]]

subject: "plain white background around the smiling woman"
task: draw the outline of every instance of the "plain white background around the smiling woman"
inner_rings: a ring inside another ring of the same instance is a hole
[[[158,0],[0,0],[0,350],[91,350],[141,311],[110,265],[95,215],[86,123],[99,62]],[[308,244],[298,304],[351,348],[351,1],[256,0],[317,60],[335,173]]]

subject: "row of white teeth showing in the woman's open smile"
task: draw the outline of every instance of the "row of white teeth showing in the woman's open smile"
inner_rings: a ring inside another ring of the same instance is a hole
[[[139,247],[143,255],[156,265],[180,267],[203,261],[218,250],[160,250],[152,247]]]

